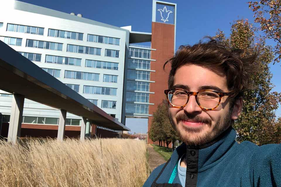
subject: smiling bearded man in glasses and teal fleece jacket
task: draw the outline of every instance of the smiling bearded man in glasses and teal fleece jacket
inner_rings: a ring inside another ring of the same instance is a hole
[[[184,142],[144,187],[281,186],[281,146],[237,143],[232,128],[255,57],[211,40],[181,46],[171,63],[169,117]],[[164,65],[164,67],[165,67]]]

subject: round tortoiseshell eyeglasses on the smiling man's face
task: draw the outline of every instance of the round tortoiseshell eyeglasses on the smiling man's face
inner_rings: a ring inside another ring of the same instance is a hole
[[[184,108],[190,95],[195,96],[196,103],[204,110],[214,110],[220,105],[223,96],[231,96],[232,92],[220,92],[214,90],[200,90],[198,92],[184,89],[165,90],[167,100],[174,108]]]

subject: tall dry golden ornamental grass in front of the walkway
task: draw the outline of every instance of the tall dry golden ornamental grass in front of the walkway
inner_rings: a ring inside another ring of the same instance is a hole
[[[0,186],[142,186],[146,143],[131,139],[0,141]]]

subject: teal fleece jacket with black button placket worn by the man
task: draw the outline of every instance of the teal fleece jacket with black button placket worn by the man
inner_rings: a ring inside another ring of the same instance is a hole
[[[181,187],[177,163],[186,153],[185,187],[281,187],[281,145],[237,143],[230,127],[204,146],[182,144],[166,164],[157,167],[143,187]]]

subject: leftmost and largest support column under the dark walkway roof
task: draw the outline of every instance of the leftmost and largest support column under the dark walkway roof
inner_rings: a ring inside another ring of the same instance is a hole
[[[8,142],[16,143],[17,137],[20,137],[21,122],[23,119],[24,96],[13,94],[11,117],[8,130]]]

